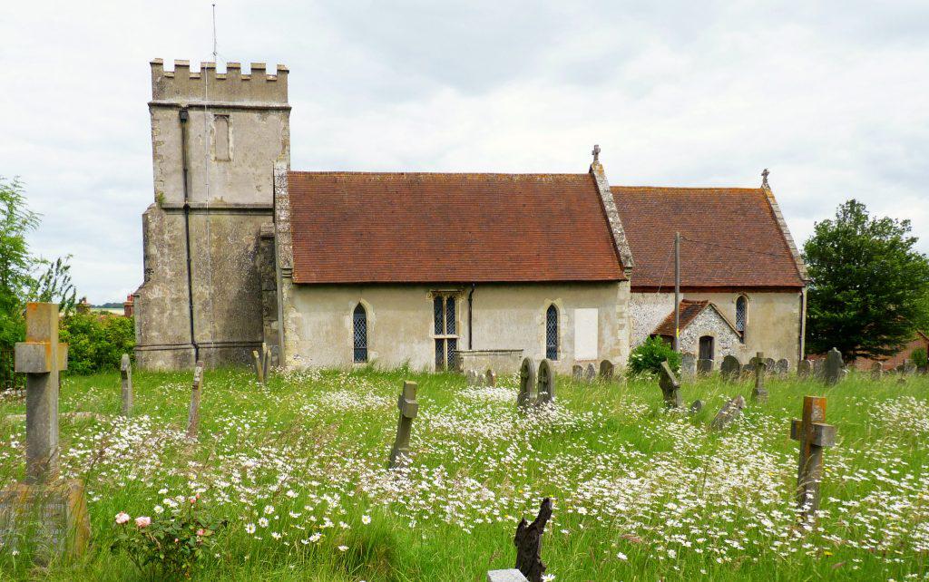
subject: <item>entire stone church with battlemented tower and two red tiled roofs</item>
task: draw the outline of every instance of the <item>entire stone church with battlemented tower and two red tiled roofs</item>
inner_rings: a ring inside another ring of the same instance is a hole
[[[761,188],[577,174],[297,172],[285,67],[151,61],[143,369],[624,364],[674,337],[720,362],[804,353],[806,272]]]

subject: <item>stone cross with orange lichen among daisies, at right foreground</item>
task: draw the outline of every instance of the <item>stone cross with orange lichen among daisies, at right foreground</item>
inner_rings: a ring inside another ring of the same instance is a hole
[[[823,448],[835,445],[835,427],[826,424],[826,399],[805,396],[804,413],[791,422],[791,438],[800,441],[797,471],[797,507],[805,519],[819,509],[819,482],[822,480]]]

